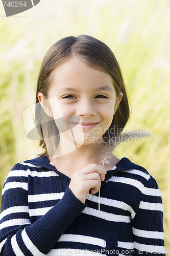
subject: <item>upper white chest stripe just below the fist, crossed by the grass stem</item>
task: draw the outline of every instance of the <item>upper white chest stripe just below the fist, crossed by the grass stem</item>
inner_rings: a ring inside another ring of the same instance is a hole
[[[89,194],[88,200],[90,200],[92,202],[95,202],[95,203],[98,203],[99,202],[99,197]],[[136,214],[135,211],[132,209],[132,207],[130,205],[126,204],[123,201],[117,201],[117,200],[114,200],[114,199],[101,197],[100,198],[100,204],[116,207],[116,208],[119,208],[119,209],[128,210],[131,213],[132,219],[135,217],[135,214]]]

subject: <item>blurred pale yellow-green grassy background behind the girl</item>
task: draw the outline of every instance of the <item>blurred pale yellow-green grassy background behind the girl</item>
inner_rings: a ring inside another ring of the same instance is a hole
[[[62,37],[88,34],[104,41],[122,68],[132,104],[128,129],[151,131],[143,143],[122,145],[157,180],[164,204],[165,247],[170,249],[170,2],[167,0],[50,0],[5,17],[0,6],[0,191],[16,162],[36,157],[22,114],[34,103],[41,60]],[[27,16],[26,16],[27,15]]]

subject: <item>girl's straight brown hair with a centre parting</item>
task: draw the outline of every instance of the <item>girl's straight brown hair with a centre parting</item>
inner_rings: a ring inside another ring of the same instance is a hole
[[[110,137],[113,137],[115,133],[117,134],[123,131],[130,117],[130,106],[125,82],[118,62],[111,49],[105,45],[104,42],[88,35],[79,35],[78,37],[69,36],[57,41],[46,52],[43,58],[38,76],[36,103],[38,103],[37,95],[39,92],[47,98],[51,84],[50,75],[52,74],[52,71],[73,55],[76,55],[93,68],[108,73],[113,78],[113,86],[116,91],[116,96],[118,97],[120,92],[123,93],[123,98],[114,114],[112,123],[108,131],[103,135],[104,141],[106,142]],[[42,137],[40,146],[44,148],[44,154],[47,155],[41,119],[42,111],[42,108],[41,110],[38,110],[38,108],[36,109],[36,123],[37,129]],[[54,122],[54,120],[50,121]],[[54,122],[51,127],[55,130],[53,133],[57,134],[57,127],[55,126]]]

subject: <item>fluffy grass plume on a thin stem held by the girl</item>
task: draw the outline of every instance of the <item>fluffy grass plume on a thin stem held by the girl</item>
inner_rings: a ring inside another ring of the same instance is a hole
[[[134,139],[144,138],[148,136],[151,136],[151,133],[141,132],[141,131],[140,132],[132,131],[132,132],[115,134],[111,139],[108,139],[108,141],[105,142],[105,148],[100,155],[102,166],[104,166],[105,163],[109,164],[113,156],[112,153],[121,142],[131,142]],[[99,190],[99,210],[100,210],[100,190]]]

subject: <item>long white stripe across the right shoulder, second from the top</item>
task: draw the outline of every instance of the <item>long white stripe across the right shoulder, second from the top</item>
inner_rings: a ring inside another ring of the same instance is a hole
[[[159,188],[144,187],[144,185],[140,181],[135,180],[135,179],[112,176],[109,179],[109,181],[120,182],[120,183],[134,186],[134,187],[138,188],[144,195],[147,195],[147,196],[156,196],[156,197],[161,196]]]

